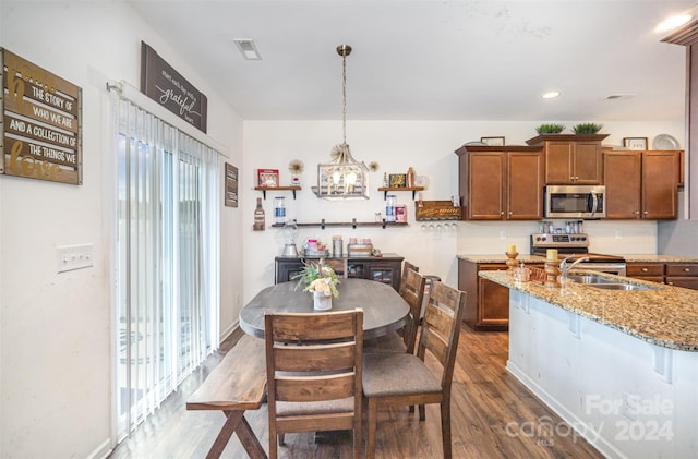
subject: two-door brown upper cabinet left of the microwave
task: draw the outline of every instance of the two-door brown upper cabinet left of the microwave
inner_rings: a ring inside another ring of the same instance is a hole
[[[540,220],[544,157],[540,147],[469,145],[456,150],[464,220]]]

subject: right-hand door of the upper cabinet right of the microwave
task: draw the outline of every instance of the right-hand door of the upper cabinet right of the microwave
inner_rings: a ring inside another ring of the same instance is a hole
[[[642,218],[677,218],[678,162],[678,152],[642,153]]]

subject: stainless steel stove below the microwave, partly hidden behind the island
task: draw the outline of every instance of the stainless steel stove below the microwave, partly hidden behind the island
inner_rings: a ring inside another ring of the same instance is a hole
[[[531,234],[531,254],[545,256],[547,249],[556,249],[559,258],[589,257],[579,263],[580,269],[625,276],[625,258],[617,255],[589,253],[589,237],[586,233],[535,233]]]

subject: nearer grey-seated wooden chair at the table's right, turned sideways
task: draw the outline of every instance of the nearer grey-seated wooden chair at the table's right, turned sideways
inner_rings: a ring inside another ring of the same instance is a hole
[[[419,419],[424,421],[424,406],[428,403],[441,404],[444,458],[450,459],[450,386],[465,304],[466,292],[434,282],[429,292],[417,354],[363,355],[363,396],[368,407],[366,456],[370,459],[375,457],[378,407],[418,404]],[[426,351],[438,362],[438,375],[426,365]]]

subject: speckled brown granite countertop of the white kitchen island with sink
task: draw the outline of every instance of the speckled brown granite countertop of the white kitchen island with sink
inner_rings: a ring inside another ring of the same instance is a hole
[[[505,270],[478,273],[493,282],[528,293],[649,343],[698,352],[697,290],[593,274],[649,286],[652,290],[603,290],[581,283],[550,288],[533,281],[516,282]]]

